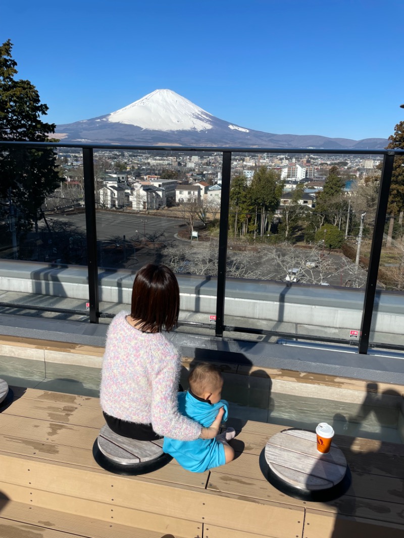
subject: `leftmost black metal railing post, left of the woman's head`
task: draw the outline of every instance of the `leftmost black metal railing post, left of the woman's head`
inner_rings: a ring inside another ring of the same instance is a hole
[[[94,152],[92,147],[83,147],[84,200],[86,204],[86,237],[88,267],[88,302],[90,323],[98,323],[100,302],[97,264],[97,230],[95,221]]]

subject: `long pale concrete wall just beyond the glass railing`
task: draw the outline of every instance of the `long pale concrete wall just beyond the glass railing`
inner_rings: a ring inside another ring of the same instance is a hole
[[[134,274],[100,271],[100,301],[129,305]],[[181,307],[215,313],[216,279],[180,275]],[[2,261],[0,290],[88,300],[87,268]],[[404,294],[378,291],[372,330],[402,335]],[[336,329],[359,328],[364,290],[283,282],[228,279],[225,314],[247,320],[299,323]]]

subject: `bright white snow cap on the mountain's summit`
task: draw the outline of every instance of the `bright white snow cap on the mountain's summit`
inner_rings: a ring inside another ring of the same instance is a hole
[[[109,114],[111,123],[135,125],[158,131],[206,131],[213,116],[172,90],[155,90],[138,101]]]

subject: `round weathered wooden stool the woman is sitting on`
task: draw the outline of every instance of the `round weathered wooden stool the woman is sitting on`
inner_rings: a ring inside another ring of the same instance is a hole
[[[94,442],[93,456],[103,469],[117,475],[143,475],[171,461],[162,446],[163,439],[137,441],[117,435],[105,424]]]

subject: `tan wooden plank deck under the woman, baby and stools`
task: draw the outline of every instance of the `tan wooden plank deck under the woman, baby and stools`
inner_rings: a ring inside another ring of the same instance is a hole
[[[13,387],[0,414],[1,538],[348,538],[404,536],[404,446],[337,436],[350,490],[296,500],[264,479],[259,455],[284,429],[231,419],[234,462],[194,474],[175,461],[139,477],[100,469],[96,398]]]

